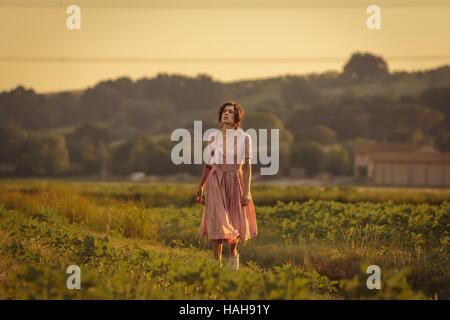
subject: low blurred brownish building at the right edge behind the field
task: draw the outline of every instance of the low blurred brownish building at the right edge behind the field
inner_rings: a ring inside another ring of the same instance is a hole
[[[450,152],[431,145],[375,144],[355,152],[355,177],[380,186],[450,187]]]

